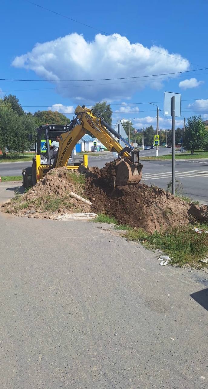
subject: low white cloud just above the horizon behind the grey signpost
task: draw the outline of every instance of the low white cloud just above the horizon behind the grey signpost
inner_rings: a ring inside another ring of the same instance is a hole
[[[145,116],[145,117],[138,117],[134,120],[134,127],[139,129],[149,126],[153,126],[154,129],[156,129],[156,121],[157,118],[152,116]],[[183,120],[175,120],[175,128],[182,127],[184,121]],[[164,117],[159,118],[159,128],[160,130],[166,130],[172,128],[172,120],[165,119]]]

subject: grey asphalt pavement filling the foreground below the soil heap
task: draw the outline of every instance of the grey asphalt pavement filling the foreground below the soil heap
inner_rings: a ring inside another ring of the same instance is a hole
[[[0,387],[208,387],[208,273],[159,266],[103,224],[0,224]]]

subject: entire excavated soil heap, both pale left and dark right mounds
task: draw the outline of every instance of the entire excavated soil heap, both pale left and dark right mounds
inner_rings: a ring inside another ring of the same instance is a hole
[[[55,168],[29,189],[15,196],[3,210],[19,216],[53,219],[74,212],[105,213],[121,224],[153,233],[190,221],[208,221],[208,207],[189,204],[155,186],[144,184],[115,187],[115,165],[89,168],[85,175]],[[69,196],[74,192],[89,198],[91,206]]]

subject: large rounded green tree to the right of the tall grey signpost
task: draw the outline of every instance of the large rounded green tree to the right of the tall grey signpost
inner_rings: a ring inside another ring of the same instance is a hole
[[[187,119],[183,145],[187,150],[191,150],[191,155],[194,154],[194,150],[204,148],[207,135],[206,131],[201,115],[194,115]]]

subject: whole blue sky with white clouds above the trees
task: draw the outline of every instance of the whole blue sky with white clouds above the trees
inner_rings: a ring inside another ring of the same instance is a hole
[[[0,78],[106,79],[208,67],[206,0],[36,1],[106,34],[24,0],[2,0]],[[158,102],[162,110],[164,91],[172,91],[182,95],[183,116],[200,112],[208,119],[208,69],[176,76],[146,77],[145,81],[0,81],[0,88],[1,96],[4,91],[15,94],[26,111],[52,107],[70,118],[71,105],[90,106],[106,99],[112,104],[113,123],[118,118],[135,118],[136,128],[155,126],[156,107],[147,102]],[[58,89],[51,89],[55,86]],[[183,117],[178,118],[176,125],[182,122]],[[171,121],[160,114],[160,128],[170,127]]]

